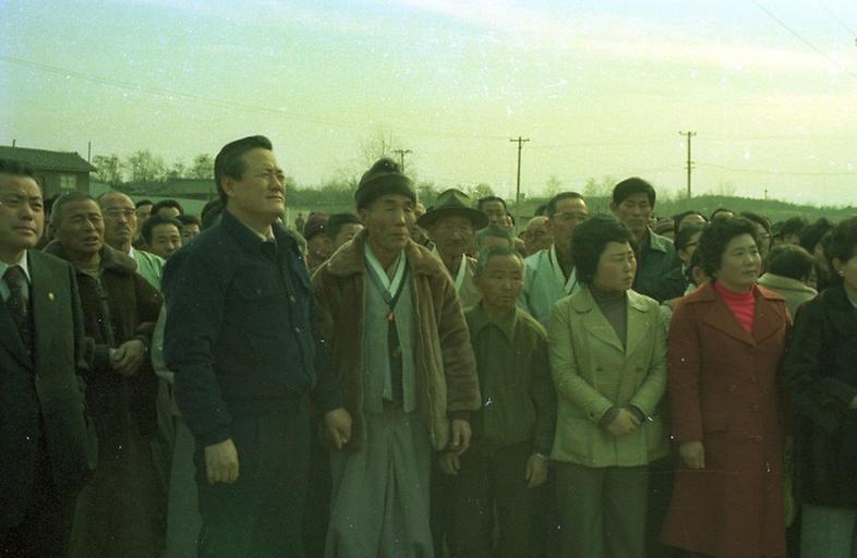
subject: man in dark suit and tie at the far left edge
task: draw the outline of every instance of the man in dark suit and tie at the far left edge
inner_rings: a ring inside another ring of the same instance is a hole
[[[27,167],[0,159],[0,556],[65,556],[95,468],[74,271],[32,250],[45,227]]]

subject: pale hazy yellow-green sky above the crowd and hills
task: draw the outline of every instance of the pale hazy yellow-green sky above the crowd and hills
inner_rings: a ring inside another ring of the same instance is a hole
[[[854,0],[0,0],[0,144],[168,163],[264,134],[302,186],[378,137],[438,187],[639,175],[857,205]]]

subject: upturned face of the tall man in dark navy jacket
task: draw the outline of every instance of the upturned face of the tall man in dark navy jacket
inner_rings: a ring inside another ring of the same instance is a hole
[[[273,223],[286,210],[286,174],[268,149],[251,149],[243,158],[241,179],[222,180],[229,208],[239,217]]]

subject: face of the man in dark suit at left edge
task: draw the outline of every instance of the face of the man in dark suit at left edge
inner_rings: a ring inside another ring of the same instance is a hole
[[[0,173],[1,253],[11,256],[34,247],[44,230],[45,205],[36,181]]]

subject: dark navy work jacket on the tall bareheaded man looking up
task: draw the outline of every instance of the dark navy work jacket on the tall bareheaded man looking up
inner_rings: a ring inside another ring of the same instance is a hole
[[[274,238],[224,211],[164,268],[164,355],[204,446],[232,437],[233,415],[287,410],[311,391],[318,410],[341,407],[297,241],[278,226]]]

